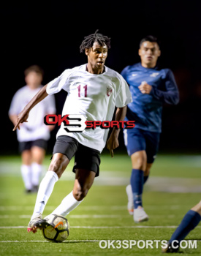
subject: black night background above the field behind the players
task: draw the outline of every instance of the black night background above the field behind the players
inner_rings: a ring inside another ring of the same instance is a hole
[[[45,70],[43,84],[64,69],[86,63],[83,38],[96,29],[111,37],[106,65],[117,72],[140,61],[142,37],[162,43],[159,65],[172,69],[181,95],[177,106],[164,105],[160,151],[200,152],[201,31],[199,1],[22,1],[1,4],[1,154],[18,153],[8,118],[15,91],[25,85],[32,64]],[[55,94],[61,113],[66,93]],[[52,132],[48,151],[55,142]],[[125,150],[122,133],[121,147]]]

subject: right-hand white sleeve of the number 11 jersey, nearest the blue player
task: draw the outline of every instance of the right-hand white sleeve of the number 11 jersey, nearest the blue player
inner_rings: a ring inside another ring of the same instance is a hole
[[[118,74],[118,92],[115,99],[115,106],[117,108],[123,108],[130,102],[132,102],[132,95],[129,90],[129,86],[126,83],[126,80]]]

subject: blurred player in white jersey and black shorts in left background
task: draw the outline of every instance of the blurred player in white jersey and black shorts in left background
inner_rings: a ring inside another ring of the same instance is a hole
[[[26,86],[19,89],[10,105],[9,116],[14,125],[17,124],[18,114],[26,104],[42,89],[43,70],[37,65],[28,67],[25,71]],[[31,110],[28,122],[20,124],[17,131],[19,151],[22,158],[21,174],[26,192],[37,192],[39,177],[42,173],[42,161],[45,157],[47,142],[50,138],[52,126],[44,124],[44,116],[56,113],[55,99],[52,95],[36,108]]]

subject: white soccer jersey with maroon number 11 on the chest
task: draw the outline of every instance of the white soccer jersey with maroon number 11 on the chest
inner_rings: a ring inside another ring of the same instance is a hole
[[[48,83],[47,93],[68,92],[62,116],[83,114],[88,121],[111,121],[115,106],[123,108],[132,102],[132,96],[124,78],[113,69],[94,75],[86,71],[86,64],[66,69],[58,78]],[[79,143],[98,151],[105,147],[109,129],[85,129],[83,132],[67,132],[61,124],[56,137],[67,135]]]

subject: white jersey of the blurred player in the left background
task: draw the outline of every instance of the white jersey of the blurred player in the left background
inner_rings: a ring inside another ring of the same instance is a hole
[[[23,86],[19,89],[12,98],[9,114],[18,115],[41,88],[42,86],[39,86],[37,89]],[[52,95],[43,99],[42,102],[39,102],[30,111],[28,122],[21,124],[20,130],[17,129],[18,141],[48,140],[50,138],[50,131],[44,124],[44,116],[53,113],[56,113],[56,106],[54,96]]]

